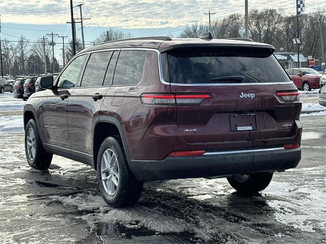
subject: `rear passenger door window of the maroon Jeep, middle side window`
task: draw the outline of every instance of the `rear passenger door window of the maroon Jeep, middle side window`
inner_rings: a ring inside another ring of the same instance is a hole
[[[81,87],[94,87],[103,84],[108,61],[112,56],[112,51],[94,52],[91,54],[82,80]]]

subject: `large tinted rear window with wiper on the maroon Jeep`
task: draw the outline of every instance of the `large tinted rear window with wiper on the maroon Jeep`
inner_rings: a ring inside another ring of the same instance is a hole
[[[262,48],[179,48],[162,53],[162,68],[171,83],[290,81],[270,50]]]

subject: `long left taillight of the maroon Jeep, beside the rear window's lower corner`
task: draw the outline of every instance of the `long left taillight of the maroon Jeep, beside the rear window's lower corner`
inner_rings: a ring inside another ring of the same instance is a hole
[[[143,104],[157,105],[196,105],[205,99],[212,98],[210,94],[143,94]]]

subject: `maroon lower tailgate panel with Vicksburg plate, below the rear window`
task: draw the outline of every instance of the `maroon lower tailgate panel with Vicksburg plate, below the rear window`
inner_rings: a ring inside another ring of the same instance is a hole
[[[291,136],[301,103],[281,103],[275,88],[275,85],[188,87],[186,92],[209,93],[212,98],[196,106],[177,105],[180,133],[188,143]],[[176,94],[184,93],[182,86],[172,85],[171,89]],[[295,88],[284,84],[279,89]],[[255,97],[241,99],[242,93]]]

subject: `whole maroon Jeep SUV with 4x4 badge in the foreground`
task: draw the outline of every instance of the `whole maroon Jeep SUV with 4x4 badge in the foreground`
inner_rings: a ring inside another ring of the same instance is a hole
[[[28,163],[92,166],[114,207],[146,181],[227,177],[239,194],[262,191],[301,159],[302,105],[274,50],[209,34],[85,49],[24,106]]]

